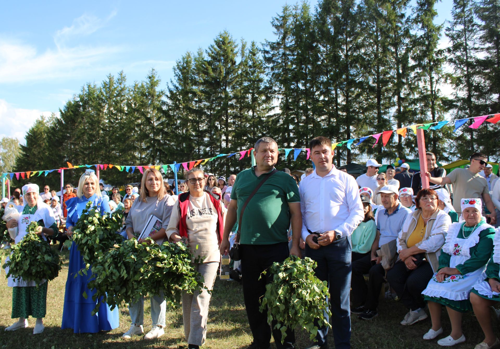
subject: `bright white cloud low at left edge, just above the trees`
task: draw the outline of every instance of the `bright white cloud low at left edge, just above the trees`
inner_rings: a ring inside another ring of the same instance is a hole
[[[24,144],[24,136],[33,123],[40,115],[50,116],[50,112],[44,112],[36,109],[15,108],[7,101],[0,99],[0,139],[2,137],[17,138]]]

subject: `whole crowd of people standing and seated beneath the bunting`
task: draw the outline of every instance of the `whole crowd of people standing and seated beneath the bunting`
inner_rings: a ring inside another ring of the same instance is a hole
[[[117,187],[105,192],[94,171],[86,170],[76,189],[65,185],[60,203],[48,186],[39,193],[38,186],[27,184],[2,204],[18,205],[21,217],[34,215],[38,233],[61,241],[61,246],[70,238],[87,202],[99,207],[101,214],[123,211],[124,238],[137,238],[151,215],[161,220],[152,240],[184,241],[194,257],[204,257],[202,262],[193,257],[193,263],[205,289],[182,294],[184,334],[190,349],[205,341],[210,291],[221,255],[229,252],[234,241],[241,260],[232,275],[241,280],[253,337],[249,349],[267,349],[271,336],[278,349],[293,348],[294,329],[288,328],[281,341],[281,331],[275,323],[267,324],[266,311],[259,311],[259,299],[269,282],[261,273],[290,254],[313,259],[315,275],[328,283],[336,348],[350,347],[351,314],[362,320],[378,316],[385,285],[385,298],[398,299],[407,309],[401,325],[430,315],[431,327],[422,333],[423,339],[441,335],[444,306],[451,332],[438,344],[465,341],[461,316],[474,311],[484,332],[476,349],[498,345],[488,307],[500,301],[500,181],[492,174],[486,155],[474,153],[467,168],[450,173],[437,166],[430,152],[426,153],[427,168],[416,173],[406,163],[379,172],[381,164],[369,159],[366,173],[354,178],[346,168],[333,165],[328,138],[314,138],[309,148],[314,167],[301,178],[287,169],[275,169],[277,144],[263,137],[253,147],[255,166],[227,180],[193,168],[185,173],[184,181],[173,183],[177,195],[154,168],[143,172],[138,186],[126,185],[123,197]],[[424,177],[429,187],[422,189]],[[60,229],[62,224],[64,229]],[[9,220],[6,225],[18,227],[13,237],[16,243],[26,234],[21,220]],[[95,305],[94,291],[87,287],[91,269],[86,275],[77,274],[84,267],[73,242],[61,327],[75,333],[116,328],[117,309],[111,311],[102,303],[97,314],[91,315]],[[32,316],[36,318],[33,333],[41,333],[47,282],[35,287],[32,282],[9,278],[8,285],[12,287],[12,318],[18,320],[5,330],[27,327],[27,317]],[[162,293],[152,296],[150,304],[152,328],[144,339],[164,334]],[[143,297],[134,299],[128,310],[130,328],[122,336],[143,335]],[[310,348],[327,348],[327,331],[319,327]]]

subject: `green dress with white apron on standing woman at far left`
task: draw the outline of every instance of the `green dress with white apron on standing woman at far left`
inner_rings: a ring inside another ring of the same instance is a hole
[[[22,220],[24,219],[24,222]],[[19,217],[19,233],[15,237],[15,243],[22,240],[26,235],[26,222],[36,220],[38,225],[45,227],[49,225],[52,228],[54,235],[58,233],[53,210],[46,204],[38,202],[34,207],[25,205]],[[6,272],[8,269],[5,270]],[[25,281],[22,278],[14,280],[8,278],[7,285],[12,287],[12,313],[11,318],[33,316],[35,318],[45,317],[46,312],[46,297],[47,297],[47,281],[35,285],[33,281]]]

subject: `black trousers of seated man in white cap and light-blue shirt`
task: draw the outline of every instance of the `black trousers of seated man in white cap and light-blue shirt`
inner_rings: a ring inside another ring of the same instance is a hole
[[[374,264],[368,254],[352,262],[352,276],[350,286],[352,288],[352,305],[364,305],[369,310],[376,310],[378,296],[385,282],[385,270],[382,264]],[[364,274],[369,274],[368,285],[364,281]]]

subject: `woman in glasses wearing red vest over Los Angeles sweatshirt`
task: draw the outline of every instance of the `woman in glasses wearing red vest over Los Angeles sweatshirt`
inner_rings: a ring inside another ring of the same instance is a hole
[[[195,257],[203,257],[195,268],[206,287],[201,293],[182,293],[182,319],[189,349],[205,342],[208,305],[220,262],[219,245],[224,231],[219,193],[203,190],[204,176],[198,168],[186,174],[189,192],[179,194],[170,216],[166,235],[172,242],[187,241]],[[193,260],[194,262],[194,260]]]

